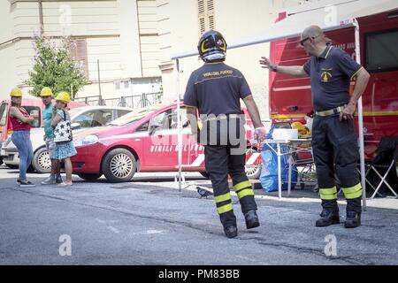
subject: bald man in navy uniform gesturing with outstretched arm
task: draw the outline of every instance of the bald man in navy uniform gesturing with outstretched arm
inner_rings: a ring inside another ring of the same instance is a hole
[[[300,43],[310,56],[304,65],[274,65],[266,57],[260,59],[260,65],[295,77],[310,76],[315,110],[312,151],[323,208],[316,226],[340,223],[337,175],[347,200],[344,226],[355,228],[361,225],[363,191],[356,169],[359,150],[353,116],[370,75],[345,51],[333,47],[318,26],[307,27]],[[356,85],[350,96],[351,80],[356,80]]]

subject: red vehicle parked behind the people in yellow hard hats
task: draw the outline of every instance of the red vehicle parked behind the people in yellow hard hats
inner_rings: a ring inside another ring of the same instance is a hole
[[[71,102],[68,104],[70,109],[85,106],[85,103]],[[0,103],[0,149],[3,143],[11,134],[11,124],[8,119],[8,111],[11,106],[11,100],[5,99]],[[27,110],[27,112],[34,117],[34,122],[31,124],[33,128],[39,128],[43,126],[42,122],[42,108],[44,107],[42,103],[42,98],[36,96],[25,95],[22,98],[22,106]],[[0,164],[3,163],[3,157],[0,157]]]

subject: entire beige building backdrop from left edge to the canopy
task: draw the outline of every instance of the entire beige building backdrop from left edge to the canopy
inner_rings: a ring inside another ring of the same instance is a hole
[[[314,0],[316,1],[316,0]],[[203,64],[180,60],[176,83],[172,55],[196,49],[200,35],[213,28],[231,44],[272,25],[279,11],[299,0],[2,0],[0,1],[0,98],[32,68],[32,36],[41,30],[54,39],[70,36],[75,57],[90,84],[81,96],[97,96],[98,61],[103,98],[163,90],[163,101],[184,93],[189,74]],[[241,70],[268,119],[268,73],[258,65],[269,44],[228,50],[226,64]]]

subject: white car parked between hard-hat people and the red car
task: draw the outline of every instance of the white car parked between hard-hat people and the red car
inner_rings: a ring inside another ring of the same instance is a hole
[[[83,106],[75,108],[69,112],[72,119],[73,134],[88,127],[104,126],[130,111],[133,111],[133,109],[116,106]],[[36,172],[41,173],[50,172],[51,170],[51,161],[43,136],[43,128],[33,128],[31,130],[30,137],[34,149],[32,167]],[[0,155],[3,157],[4,164],[8,167],[18,168],[18,149],[11,142],[11,136],[4,142]]]

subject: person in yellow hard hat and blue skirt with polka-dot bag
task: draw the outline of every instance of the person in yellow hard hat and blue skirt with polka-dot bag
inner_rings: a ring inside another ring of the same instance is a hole
[[[53,110],[51,122],[51,126],[54,127],[54,142],[56,143],[55,158],[64,161],[66,172],[66,181],[58,184],[58,186],[72,186],[71,157],[76,155],[77,152],[73,146],[71,117],[66,111],[68,103],[71,102],[71,96],[67,92],[61,91],[57,95],[56,101],[57,107]]]

